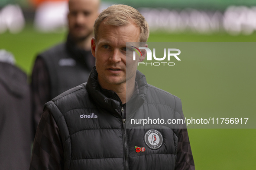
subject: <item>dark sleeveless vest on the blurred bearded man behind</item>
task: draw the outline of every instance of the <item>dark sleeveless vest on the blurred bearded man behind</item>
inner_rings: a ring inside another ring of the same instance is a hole
[[[45,69],[49,72],[51,87],[51,99],[67,91],[70,88],[87,81],[95,62],[91,50],[78,50],[71,40],[58,44],[37,58],[45,63]]]

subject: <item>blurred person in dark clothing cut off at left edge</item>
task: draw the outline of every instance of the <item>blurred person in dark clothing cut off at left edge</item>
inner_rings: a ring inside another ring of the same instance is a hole
[[[0,50],[0,169],[28,170],[33,141],[31,93],[27,76]]]

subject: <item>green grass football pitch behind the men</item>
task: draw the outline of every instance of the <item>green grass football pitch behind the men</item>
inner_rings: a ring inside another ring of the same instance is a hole
[[[8,32],[1,34],[0,49],[12,52],[17,65],[30,75],[36,54],[64,40],[65,33],[44,34],[27,26],[16,35]],[[240,55],[225,54],[222,51],[225,55],[219,57],[220,51],[215,49],[209,52],[211,57],[200,58],[196,53],[191,53],[191,58],[184,57],[177,64],[175,62],[175,66],[139,66],[139,70],[146,75],[150,84],[181,98],[183,112],[187,117],[247,116],[249,123],[256,123],[253,122],[256,110],[256,59],[253,57],[253,42],[256,41],[256,34],[231,36],[227,33],[196,35],[152,32],[149,41],[190,42],[187,45],[196,44],[193,42],[250,42],[238,44],[240,47],[234,46],[237,47],[234,50],[242,51]],[[199,45],[204,48],[204,43]],[[225,45],[228,46],[229,43]],[[244,49],[252,49],[252,52]],[[241,129],[242,126],[232,126],[234,129],[220,129],[221,127],[188,128],[196,169],[255,169],[256,130]]]

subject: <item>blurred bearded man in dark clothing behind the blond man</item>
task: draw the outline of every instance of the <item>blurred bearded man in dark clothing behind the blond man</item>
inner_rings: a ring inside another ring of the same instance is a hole
[[[58,94],[87,81],[95,58],[91,54],[93,25],[100,0],[69,0],[68,36],[64,43],[36,57],[32,70],[32,111],[37,127],[43,105]]]

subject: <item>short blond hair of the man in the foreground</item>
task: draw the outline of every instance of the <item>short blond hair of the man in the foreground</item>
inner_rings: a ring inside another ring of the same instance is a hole
[[[94,35],[97,41],[98,29],[100,23],[104,21],[105,25],[123,26],[129,25],[131,21],[140,28],[139,41],[146,42],[149,38],[149,25],[137,9],[127,5],[112,5],[103,10],[94,22]]]

